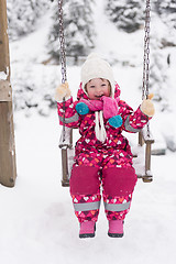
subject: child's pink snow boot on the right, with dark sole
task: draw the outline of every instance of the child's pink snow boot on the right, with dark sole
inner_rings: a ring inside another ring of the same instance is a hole
[[[110,220],[108,235],[111,238],[122,238],[123,220]]]

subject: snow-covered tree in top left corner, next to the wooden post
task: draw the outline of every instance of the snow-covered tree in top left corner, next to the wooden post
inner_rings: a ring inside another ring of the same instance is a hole
[[[48,6],[47,0],[8,0],[8,22],[10,40],[34,31],[35,22]]]

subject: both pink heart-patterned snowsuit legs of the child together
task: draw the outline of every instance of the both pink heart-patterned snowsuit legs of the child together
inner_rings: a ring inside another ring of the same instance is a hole
[[[130,210],[136,183],[132,161],[123,151],[110,150],[80,153],[70,177],[70,195],[79,222],[97,221],[100,186],[108,220],[123,220]]]

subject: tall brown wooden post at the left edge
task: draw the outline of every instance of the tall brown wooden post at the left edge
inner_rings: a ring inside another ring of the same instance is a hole
[[[0,184],[13,187],[16,166],[7,31],[7,0],[0,0]]]

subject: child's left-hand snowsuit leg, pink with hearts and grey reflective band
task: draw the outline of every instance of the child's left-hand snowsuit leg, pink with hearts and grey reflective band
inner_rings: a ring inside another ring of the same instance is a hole
[[[80,153],[73,166],[70,195],[79,222],[98,219],[101,200],[99,162],[96,153]]]

